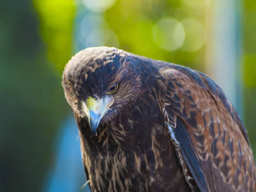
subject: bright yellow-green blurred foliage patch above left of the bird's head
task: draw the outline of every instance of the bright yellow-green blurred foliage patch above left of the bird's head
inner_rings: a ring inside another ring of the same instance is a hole
[[[62,73],[72,52],[73,0],[33,0],[40,18],[41,37],[47,46],[49,60]]]

